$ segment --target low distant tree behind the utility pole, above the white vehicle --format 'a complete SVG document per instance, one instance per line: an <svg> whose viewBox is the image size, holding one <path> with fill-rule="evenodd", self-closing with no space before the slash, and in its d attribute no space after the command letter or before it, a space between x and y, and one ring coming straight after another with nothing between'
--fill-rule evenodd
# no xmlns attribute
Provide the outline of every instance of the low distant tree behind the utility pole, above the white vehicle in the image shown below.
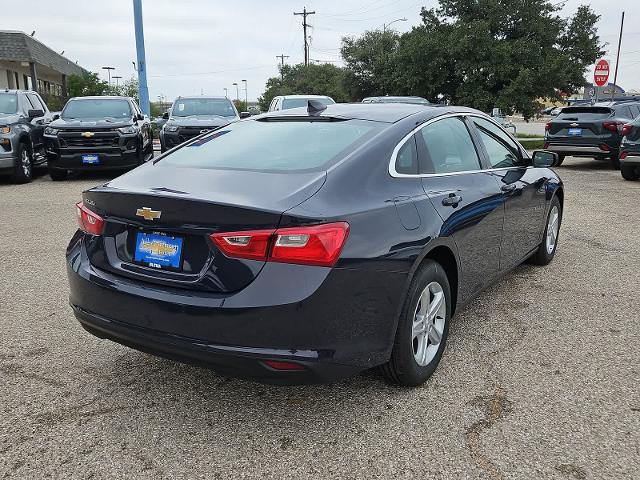
<svg viewBox="0 0 640 480"><path fill-rule="evenodd" d="M258 98L260 109L267 111L277 95L328 95L336 102L349 101L344 73L342 68L330 63L283 65L280 77L267 80L265 92Z"/></svg>

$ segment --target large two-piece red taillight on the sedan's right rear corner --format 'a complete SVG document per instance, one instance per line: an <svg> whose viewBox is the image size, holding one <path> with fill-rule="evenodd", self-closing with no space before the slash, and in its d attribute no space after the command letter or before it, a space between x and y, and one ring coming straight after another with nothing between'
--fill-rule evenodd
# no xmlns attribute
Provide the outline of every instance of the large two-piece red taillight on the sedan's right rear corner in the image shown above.
<svg viewBox="0 0 640 480"><path fill-rule="evenodd" d="M214 233L227 257L302 265L333 266L349 235L346 222L245 232Z"/></svg>

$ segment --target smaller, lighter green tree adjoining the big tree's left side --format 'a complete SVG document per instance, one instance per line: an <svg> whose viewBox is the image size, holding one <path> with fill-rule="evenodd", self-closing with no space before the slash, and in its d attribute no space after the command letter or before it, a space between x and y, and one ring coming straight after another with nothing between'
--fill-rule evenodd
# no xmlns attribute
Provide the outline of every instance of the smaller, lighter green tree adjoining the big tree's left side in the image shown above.
<svg viewBox="0 0 640 480"><path fill-rule="evenodd" d="M393 63L399 38L393 30L371 30L361 37L342 39L344 82L351 98L385 95L394 89Z"/></svg>

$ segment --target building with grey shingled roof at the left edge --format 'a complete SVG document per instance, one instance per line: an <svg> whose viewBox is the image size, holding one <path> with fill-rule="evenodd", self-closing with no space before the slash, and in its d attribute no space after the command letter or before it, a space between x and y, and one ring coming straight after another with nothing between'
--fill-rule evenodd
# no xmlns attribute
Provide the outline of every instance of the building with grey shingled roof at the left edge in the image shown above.
<svg viewBox="0 0 640 480"><path fill-rule="evenodd" d="M66 97L67 77L86 70L24 32L0 30L0 88Z"/></svg>

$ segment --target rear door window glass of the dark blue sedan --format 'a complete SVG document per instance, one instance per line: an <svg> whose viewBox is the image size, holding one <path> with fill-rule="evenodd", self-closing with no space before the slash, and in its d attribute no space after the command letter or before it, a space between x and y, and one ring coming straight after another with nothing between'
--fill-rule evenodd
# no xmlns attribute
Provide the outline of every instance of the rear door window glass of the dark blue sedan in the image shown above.
<svg viewBox="0 0 640 480"><path fill-rule="evenodd" d="M445 118L420 130L425 158L422 173L455 173L480 169L478 153L460 117Z"/></svg>

